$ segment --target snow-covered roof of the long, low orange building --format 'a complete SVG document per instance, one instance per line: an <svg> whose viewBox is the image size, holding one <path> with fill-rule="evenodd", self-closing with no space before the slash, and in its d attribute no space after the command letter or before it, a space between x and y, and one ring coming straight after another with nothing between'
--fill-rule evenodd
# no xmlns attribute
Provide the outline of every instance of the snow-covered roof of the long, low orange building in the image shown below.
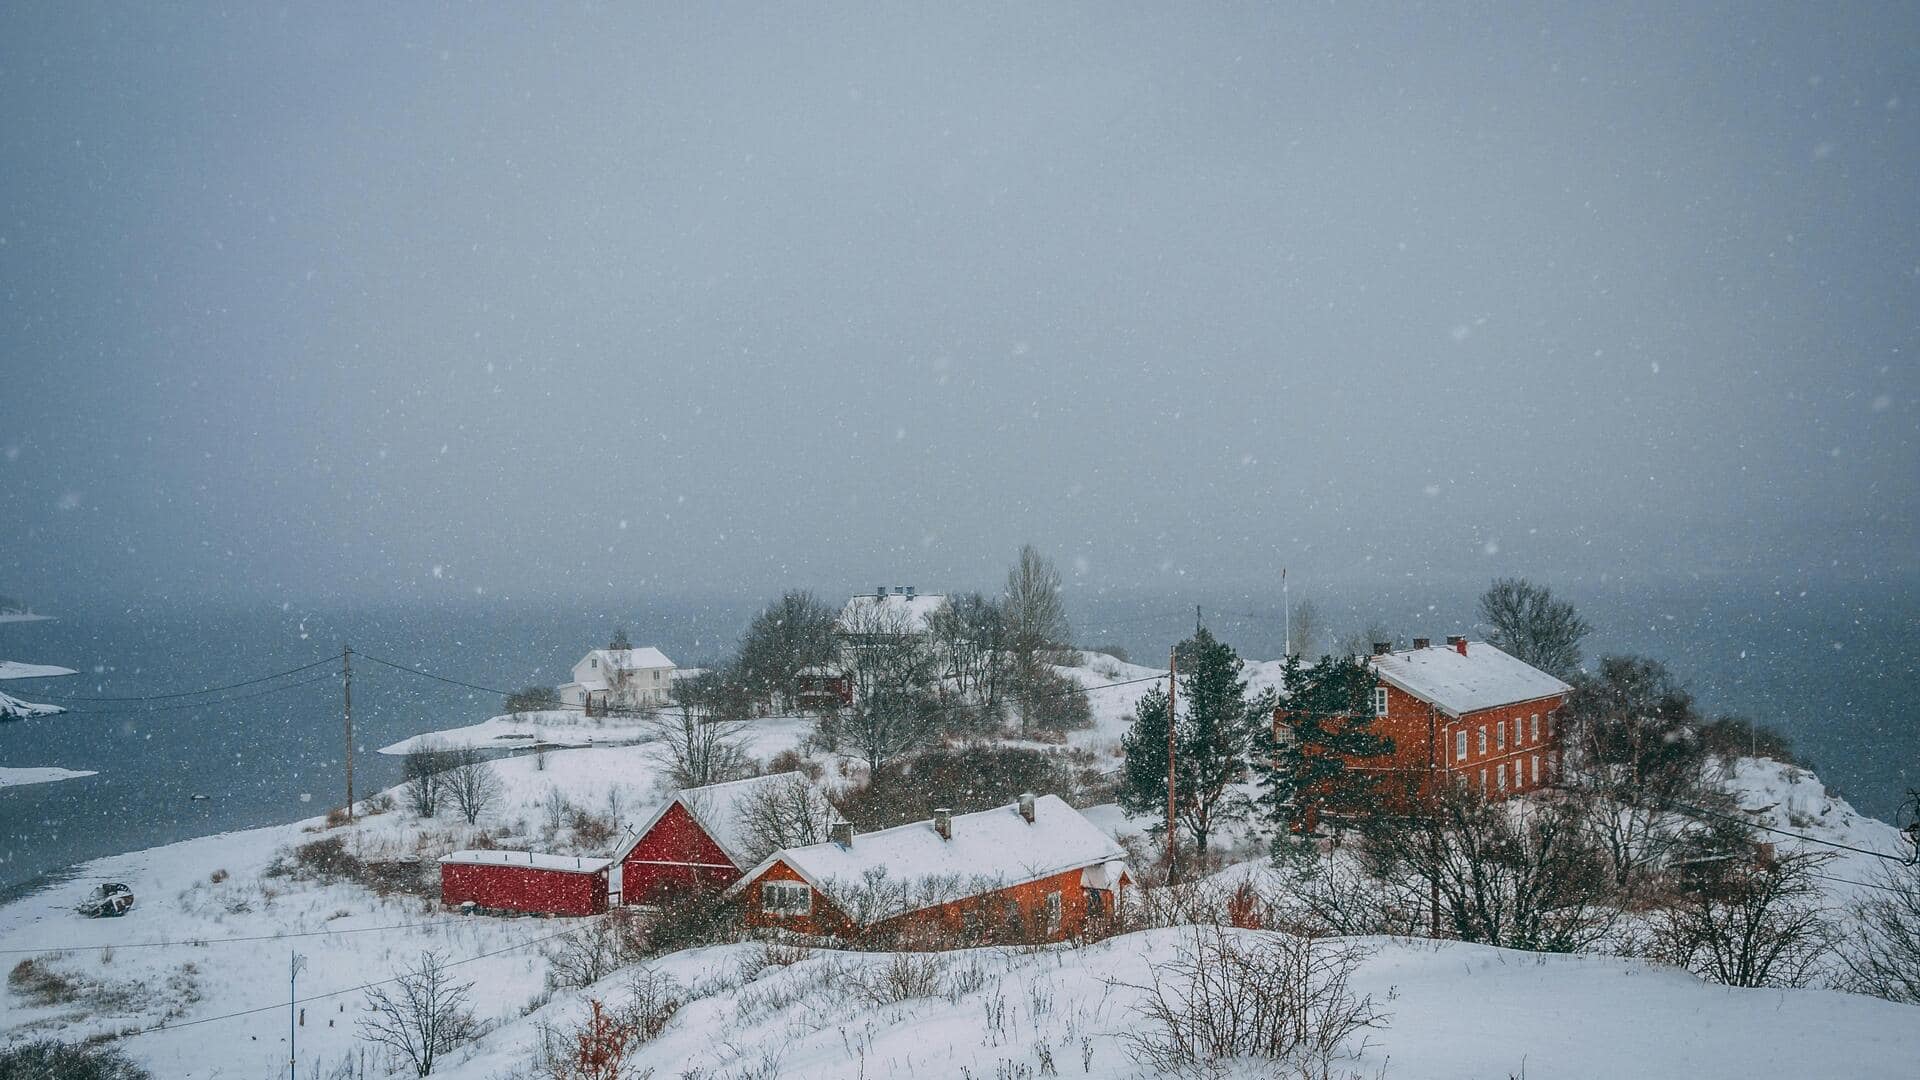
<svg viewBox="0 0 1920 1080"><path fill-rule="evenodd" d="M862 832L851 847L810 844L766 857L733 890L785 863L843 915L872 926L908 911L1033 882L1066 871L1100 867L1100 880L1119 880L1125 851L1060 796L1033 801L1033 822L1018 803L954 815L952 840L931 821Z"/></svg>

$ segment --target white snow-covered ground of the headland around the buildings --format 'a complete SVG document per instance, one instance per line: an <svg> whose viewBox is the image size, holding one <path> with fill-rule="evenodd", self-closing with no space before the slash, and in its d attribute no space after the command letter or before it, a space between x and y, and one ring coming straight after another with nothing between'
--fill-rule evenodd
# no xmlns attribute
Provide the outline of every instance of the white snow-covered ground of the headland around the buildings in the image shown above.
<svg viewBox="0 0 1920 1080"><path fill-rule="evenodd" d="M1156 671L1110 657L1085 663L1064 673L1083 686L1129 682L1094 690L1094 728L1071 740L1110 753L1133 701L1152 686L1133 680ZM804 734L804 721L764 721L751 753L764 761ZM365 1049L355 1030L361 986L390 978L420 949L436 949L459 961L453 972L476 984L478 1013L493 1024L436 1076L493 1080L522 1068L538 1024L572 1026L586 1009L586 992L540 1003L540 944L572 920L447 915L420 896L382 897L361 884L269 874L294 846L330 836L363 859L417 859L426 872L438 855L476 842L607 853L561 824L568 807L636 822L666 796L649 746L516 755L501 759L497 771L503 798L476 826L451 811L420 822L405 807L338 828L309 819L100 859L69 882L0 907L8 967L33 959L29 974L58 976L54 994L25 992L31 980L0 992L0 1042L123 1034L121 1045L156 1076L284 1074L288 961L300 953L307 961L298 984L296 1020L305 1017L298 1026L300 1074L324 1074ZM1811 773L1740 761L1728 780L1743 807L1780 828L1901 849L1889 824L1830 798ZM1112 832L1139 824L1117 807L1091 817ZM1843 855L1824 872L1872 880L1876 863ZM109 880L138 896L125 919L90 920L73 911ZM1836 907L1853 892L1839 882L1828 888ZM1179 936L1148 930L1089 947L943 953L927 961L939 969L933 994L891 1003L860 990L874 982L862 972L893 963L885 953L816 949L799 963L768 967L756 944L689 949L655 963L687 1003L636 1061L662 1078L1044 1076L1044 1063L1062 1076L1146 1076L1125 1053L1121 1036L1139 1019L1137 992L1121 984L1144 982L1173 955ZM1377 999L1388 1024L1342 1067L1359 1076L1801 1080L1914 1076L1920 1061L1920 1011L1876 999L1726 990L1617 957L1384 938L1363 944L1371 957L1357 972L1357 990ZM609 978L591 995L618 1001L630 974Z"/></svg>

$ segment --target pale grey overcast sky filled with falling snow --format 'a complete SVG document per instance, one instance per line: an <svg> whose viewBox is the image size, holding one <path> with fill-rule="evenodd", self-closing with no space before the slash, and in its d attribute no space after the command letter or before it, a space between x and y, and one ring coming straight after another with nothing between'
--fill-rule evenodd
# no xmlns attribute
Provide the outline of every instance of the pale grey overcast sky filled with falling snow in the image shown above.
<svg viewBox="0 0 1920 1080"><path fill-rule="evenodd" d="M1910 4L79 8L0 592L1920 561Z"/></svg>

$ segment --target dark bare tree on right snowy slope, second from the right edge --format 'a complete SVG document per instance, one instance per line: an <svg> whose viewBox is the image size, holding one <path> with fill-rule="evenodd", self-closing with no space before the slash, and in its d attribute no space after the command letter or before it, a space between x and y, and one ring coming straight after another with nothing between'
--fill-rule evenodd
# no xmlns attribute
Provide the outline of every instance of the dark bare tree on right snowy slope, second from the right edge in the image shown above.
<svg viewBox="0 0 1920 1080"><path fill-rule="evenodd" d="M1814 872L1828 855L1778 851L1716 819L1676 859L1690 869L1655 928L1661 953L1728 986L1803 986L1830 938Z"/></svg>

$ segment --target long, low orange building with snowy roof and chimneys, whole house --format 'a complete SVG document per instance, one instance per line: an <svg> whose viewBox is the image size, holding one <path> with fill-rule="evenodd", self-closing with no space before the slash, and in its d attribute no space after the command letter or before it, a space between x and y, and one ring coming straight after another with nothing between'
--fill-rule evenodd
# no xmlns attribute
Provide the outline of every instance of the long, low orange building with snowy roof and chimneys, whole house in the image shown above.
<svg viewBox="0 0 1920 1080"><path fill-rule="evenodd" d="M1058 942L1112 920L1129 884L1114 838L1058 796L768 855L733 886L751 926L856 938Z"/></svg>

